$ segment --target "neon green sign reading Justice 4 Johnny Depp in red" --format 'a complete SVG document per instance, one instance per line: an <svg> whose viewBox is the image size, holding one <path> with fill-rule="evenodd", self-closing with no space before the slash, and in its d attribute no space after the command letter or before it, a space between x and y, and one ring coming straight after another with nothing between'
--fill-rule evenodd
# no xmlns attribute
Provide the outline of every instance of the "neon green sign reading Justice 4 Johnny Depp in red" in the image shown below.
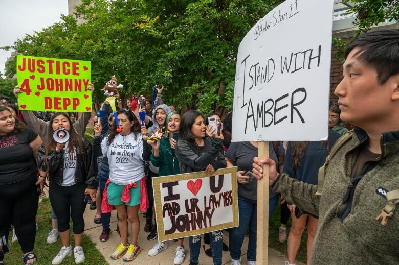
<svg viewBox="0 0 399 265"><path fill-rule="evenodd" d="M17 55L17 78L23 110L87 112L92 110L91 62Z"/></svg>

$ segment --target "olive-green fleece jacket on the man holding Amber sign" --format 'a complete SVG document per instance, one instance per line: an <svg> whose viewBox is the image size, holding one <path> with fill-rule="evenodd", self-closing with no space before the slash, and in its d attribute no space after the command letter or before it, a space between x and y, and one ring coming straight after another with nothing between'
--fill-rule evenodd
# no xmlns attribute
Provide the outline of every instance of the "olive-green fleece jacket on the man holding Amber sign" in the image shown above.
<svg viewBox="0 0 399 265"><path fill-rule="evenodd" d="M380 160L354 189L349 214L343 220L337 216L351 184L347 155L357 153L367 140L363 130L355 129L352 138L330 160L321 196L315 195L317 185L286 174L280 174L273 184L287 201L319 216L311 264L399 264L399 205L386 226L375 220L387 204L378 190L399 189L399 131L382 135ZM353 156L352 168L356 158Z"/></svg>

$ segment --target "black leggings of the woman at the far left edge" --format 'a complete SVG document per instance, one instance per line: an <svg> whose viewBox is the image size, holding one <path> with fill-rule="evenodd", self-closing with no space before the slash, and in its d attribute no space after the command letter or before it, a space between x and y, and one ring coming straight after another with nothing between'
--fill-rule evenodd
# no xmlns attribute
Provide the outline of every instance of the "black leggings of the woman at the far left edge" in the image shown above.
<svg viewBox="0 0 399 265"><path fill-rule="evenodd" d="M0 185L0 237L15 227L19 245L24 253L33 250L36 237L36 214L39 195L36 173L23 181ZM0 257L0 261L3 258Z"/></svg>

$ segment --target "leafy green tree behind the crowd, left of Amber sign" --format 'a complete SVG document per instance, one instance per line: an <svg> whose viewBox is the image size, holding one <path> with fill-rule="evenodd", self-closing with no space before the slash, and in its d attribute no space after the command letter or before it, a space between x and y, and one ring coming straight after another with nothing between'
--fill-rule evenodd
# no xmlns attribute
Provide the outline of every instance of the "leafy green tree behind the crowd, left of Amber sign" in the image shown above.
<svg viewBox="0 0 399 265"><path fill-rule="evenodd" d="M92 62L95 97L110 76L122 94L151 95L165 86L168 104L200 109L232 106L238 45L275 0L84 0L72 16L26 35L13 46L20 54ZM13 64L14 63L14 64ZM6 75L15 74L15 60Z"/></svg>

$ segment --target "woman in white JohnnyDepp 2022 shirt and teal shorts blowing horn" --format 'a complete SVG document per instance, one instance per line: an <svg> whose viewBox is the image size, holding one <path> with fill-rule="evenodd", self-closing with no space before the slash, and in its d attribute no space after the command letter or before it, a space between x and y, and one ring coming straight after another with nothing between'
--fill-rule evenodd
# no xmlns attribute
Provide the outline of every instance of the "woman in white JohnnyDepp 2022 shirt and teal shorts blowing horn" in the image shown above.
<svg viewBox="0 0 399 265"><path fill-rule="evenodd" d="M149 161L150 149L142 139L147 130L145 126L141 127L137 117L128 109L118 110L117 115L122 131L117 132L116 123L113 123L109 135L101 142L102 155L108 157L109 163L109 179L104 188L102 207L112 205L118 213L122 242L111 258L119 259L123 256L123 261L131 261L141 252L137 242L140 231L138 213L142 199L146 197L144 161ZM97 124L94 128L95 136L99 136L101 130ZM98 149L98 146L95 148ZM130 242L127 220L131 225Z"/></svg>

